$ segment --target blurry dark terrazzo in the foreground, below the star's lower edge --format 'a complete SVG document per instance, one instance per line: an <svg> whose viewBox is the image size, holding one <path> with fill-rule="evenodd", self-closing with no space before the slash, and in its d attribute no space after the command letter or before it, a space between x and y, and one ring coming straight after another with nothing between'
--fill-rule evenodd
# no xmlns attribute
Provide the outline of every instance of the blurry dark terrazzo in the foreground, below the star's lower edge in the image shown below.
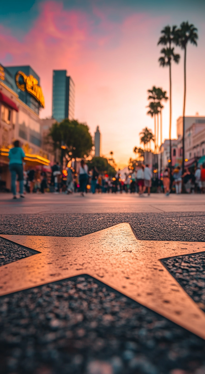
<svg viewBox="0 0 205 374"><path fill-rule="evenodd" d="M1 373L205 373L204 340L90 276L1 297L0 310Z"/></svg>

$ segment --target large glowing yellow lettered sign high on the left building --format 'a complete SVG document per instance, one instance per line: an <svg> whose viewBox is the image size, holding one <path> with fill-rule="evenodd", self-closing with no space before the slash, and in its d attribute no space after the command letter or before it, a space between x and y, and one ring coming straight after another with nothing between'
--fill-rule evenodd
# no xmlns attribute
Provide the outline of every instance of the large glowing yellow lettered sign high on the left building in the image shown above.
<svg viewBox="0 0 205 374"><path fill-rule="evenodd" d="M18 71L16 74L16 86L21 91L27 91L36 98L42 108L45 107L45 99L43 96L42 88L38 85L38 81L33 75L27 76L22 71Z"/></svg>

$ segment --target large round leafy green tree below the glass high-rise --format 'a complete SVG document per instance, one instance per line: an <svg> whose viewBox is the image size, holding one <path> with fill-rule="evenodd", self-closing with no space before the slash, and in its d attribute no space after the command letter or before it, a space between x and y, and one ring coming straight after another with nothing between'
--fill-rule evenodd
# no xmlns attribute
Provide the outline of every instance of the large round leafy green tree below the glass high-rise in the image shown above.
<svg viewBox="0 0 205 374"><path fill-rule="evenodd" d="M87 157L92 150L92 137L86 123L65 119L52 125L49 136L52 138L54 150L65 145L74 159Z"/></svg>

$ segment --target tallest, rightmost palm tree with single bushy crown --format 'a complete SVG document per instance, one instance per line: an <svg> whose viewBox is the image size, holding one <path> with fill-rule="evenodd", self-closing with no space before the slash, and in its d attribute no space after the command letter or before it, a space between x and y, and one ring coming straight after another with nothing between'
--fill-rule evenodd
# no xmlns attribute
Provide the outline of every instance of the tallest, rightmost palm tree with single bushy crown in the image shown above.
<svg viewBox="0 0 205 374"><path fill-rule="evenodd" d="M185 103L186 103L186 53L187 53L187 43L190 42L197 46L196 40L198 39L197 34L198 29L189 22L182 22L180 29L178 30L178 45L181 49L184 49L184 103L183 103L183 139L182 139L182 169L184 173L184 134L185 134Z"/></svg>

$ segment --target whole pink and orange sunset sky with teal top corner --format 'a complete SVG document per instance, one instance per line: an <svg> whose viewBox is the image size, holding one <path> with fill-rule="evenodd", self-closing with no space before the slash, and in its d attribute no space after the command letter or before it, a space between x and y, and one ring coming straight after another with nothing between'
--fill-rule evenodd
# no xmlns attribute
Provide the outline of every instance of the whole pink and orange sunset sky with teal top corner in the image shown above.
<svg viewBox="0 0 205 374"><path fill-rule="evenodd" d="M101 151L114 152L119 167L134 157L139 132L153 130L147 116L147 89L169 92L168 68L159 67L160 30L189 21L198 28L198 47L187 51L186 115L205 115L204 0L3 1L0 63L30 65L45 95L42 118L51 116L52 70L67 69L76 85L75 117L91 134L100 126ZM172 68L172 137L183 106L183 51ZM169 107L163 110L168 138Z"/></svg>

